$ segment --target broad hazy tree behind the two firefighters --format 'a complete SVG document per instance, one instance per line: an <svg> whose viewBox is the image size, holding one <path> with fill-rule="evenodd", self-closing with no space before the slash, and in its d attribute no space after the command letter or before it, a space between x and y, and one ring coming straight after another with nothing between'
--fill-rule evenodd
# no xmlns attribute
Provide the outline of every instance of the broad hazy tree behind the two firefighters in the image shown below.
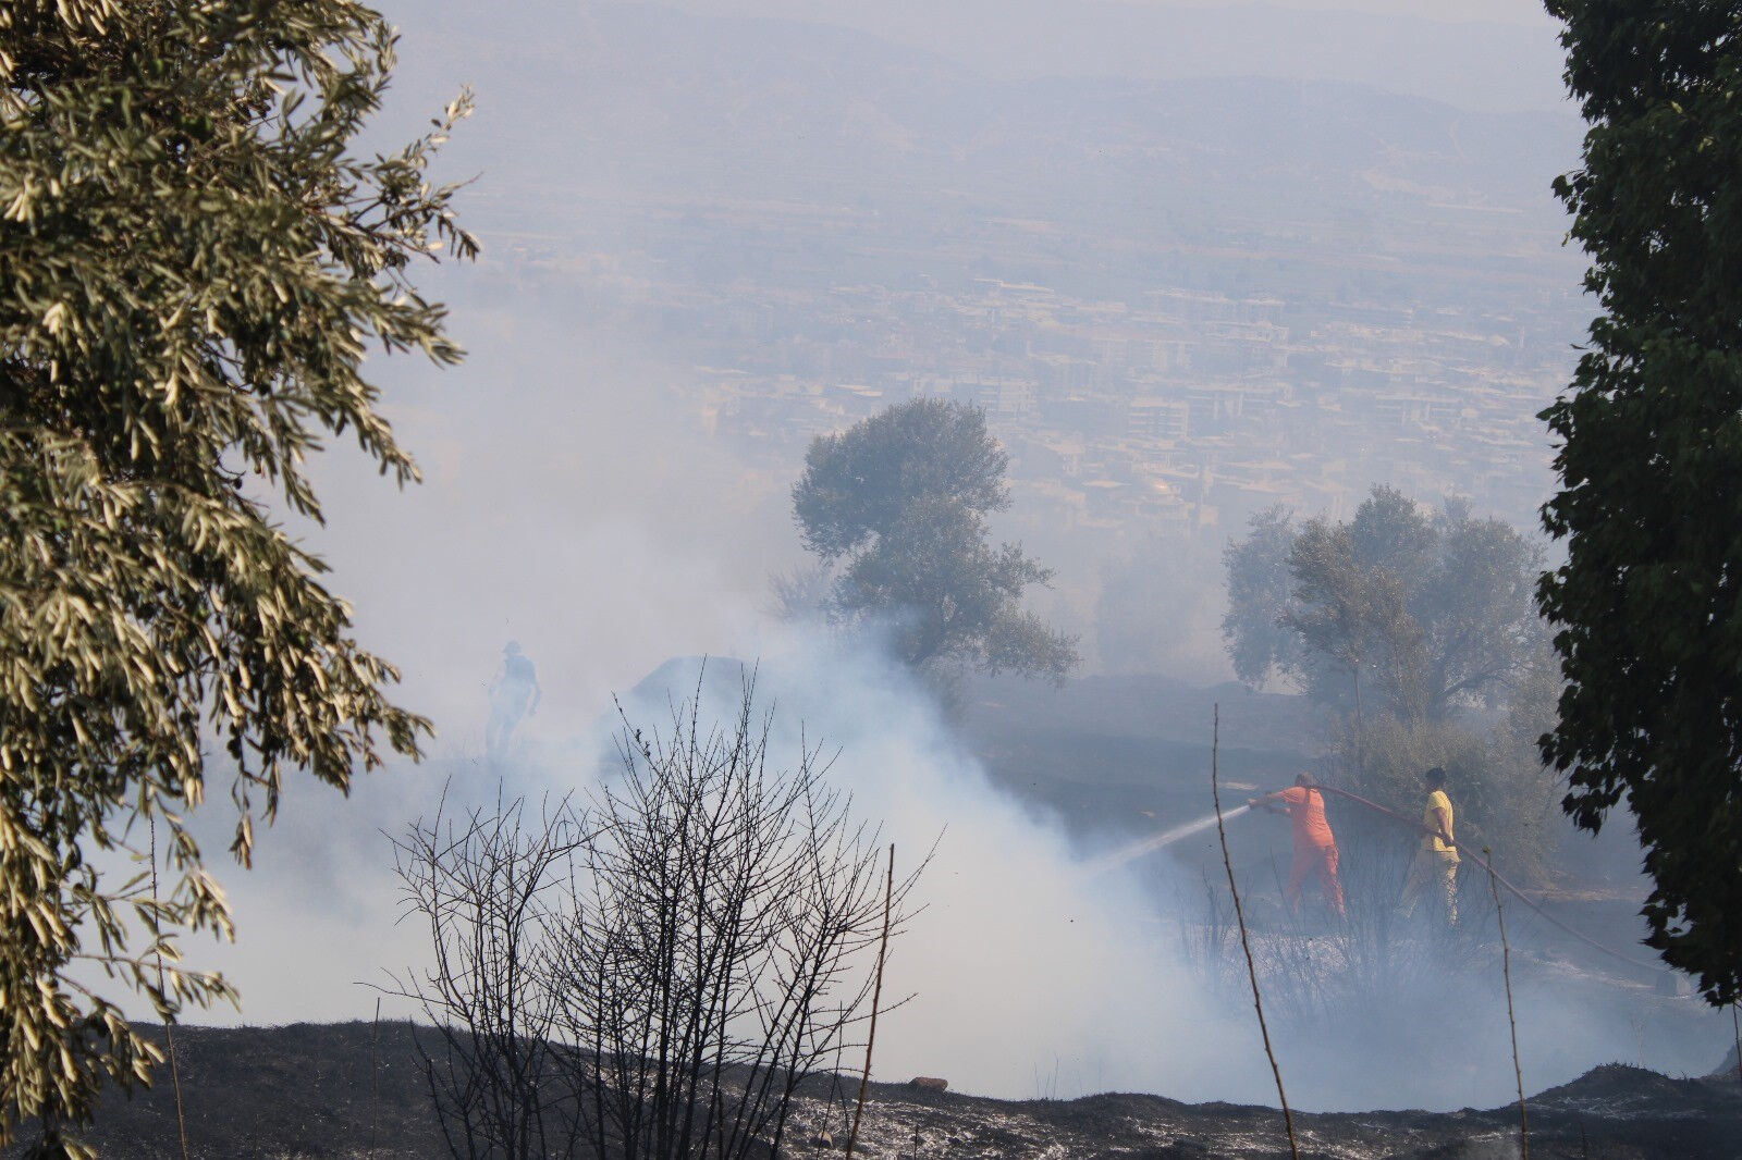
<svg viewBox="0 0 1742 1160"><path fill-rule="evenodd" d="M1462 502L1430 514L1374 488L1345 523L1263 512L1223 559L1240 679L1277 674L1326 705L1354 786L1402 803L1448 766L1470 836L1540 866L1552 779L1517 744L1552 719L1536 545ZM1498 725L1467 725L1477 707Z"/></svg>

